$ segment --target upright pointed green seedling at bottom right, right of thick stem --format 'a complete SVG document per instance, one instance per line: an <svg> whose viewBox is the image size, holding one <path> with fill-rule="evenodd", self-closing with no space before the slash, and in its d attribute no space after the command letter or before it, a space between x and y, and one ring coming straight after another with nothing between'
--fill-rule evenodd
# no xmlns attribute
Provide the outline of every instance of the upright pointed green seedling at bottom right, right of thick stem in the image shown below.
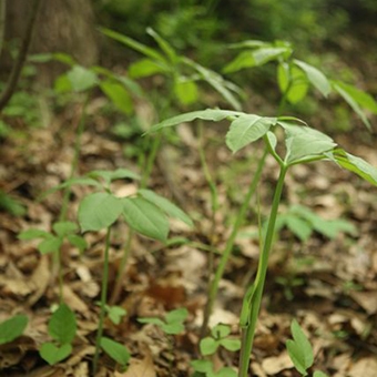
<svg viewBox="0 0 377 377"><path fill-rule="evenodd" d="M302 376L308 375L308 369L313 366L314 355L312 345L296 319L292 320L291 332L293 339L286 342L286 347L295 368ZM323 371L315 371L313 377L327 377Z"/></svg>

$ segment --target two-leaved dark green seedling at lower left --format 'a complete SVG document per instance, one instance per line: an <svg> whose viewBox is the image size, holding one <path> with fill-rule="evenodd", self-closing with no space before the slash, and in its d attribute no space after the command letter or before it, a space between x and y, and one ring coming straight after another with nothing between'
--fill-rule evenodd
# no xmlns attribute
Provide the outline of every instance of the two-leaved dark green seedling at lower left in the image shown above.
<svg viewBox="0 0 377 377"><path fill-rule="evenodd" d="M45 361L54 365L72 353L72 342L77 334L77 320L72 309L61 304L52 314L48 329L54 342L43 343L39 353Z"/></svg>

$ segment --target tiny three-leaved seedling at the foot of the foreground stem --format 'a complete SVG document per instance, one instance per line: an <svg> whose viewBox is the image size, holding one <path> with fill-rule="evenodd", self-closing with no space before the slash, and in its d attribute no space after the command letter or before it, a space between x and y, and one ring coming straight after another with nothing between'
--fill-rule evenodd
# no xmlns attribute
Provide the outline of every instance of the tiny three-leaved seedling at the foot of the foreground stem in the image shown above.
<svg viewBox="0 0 377 377"><path fill-rule="evenodd" d="M228 337L231 327L227 325L216 325L211 329L211 335L203 338L200 343L201 354L203 356L213 355L220 346L227 350L236 351L241 348L240 339Z"/></svg>

